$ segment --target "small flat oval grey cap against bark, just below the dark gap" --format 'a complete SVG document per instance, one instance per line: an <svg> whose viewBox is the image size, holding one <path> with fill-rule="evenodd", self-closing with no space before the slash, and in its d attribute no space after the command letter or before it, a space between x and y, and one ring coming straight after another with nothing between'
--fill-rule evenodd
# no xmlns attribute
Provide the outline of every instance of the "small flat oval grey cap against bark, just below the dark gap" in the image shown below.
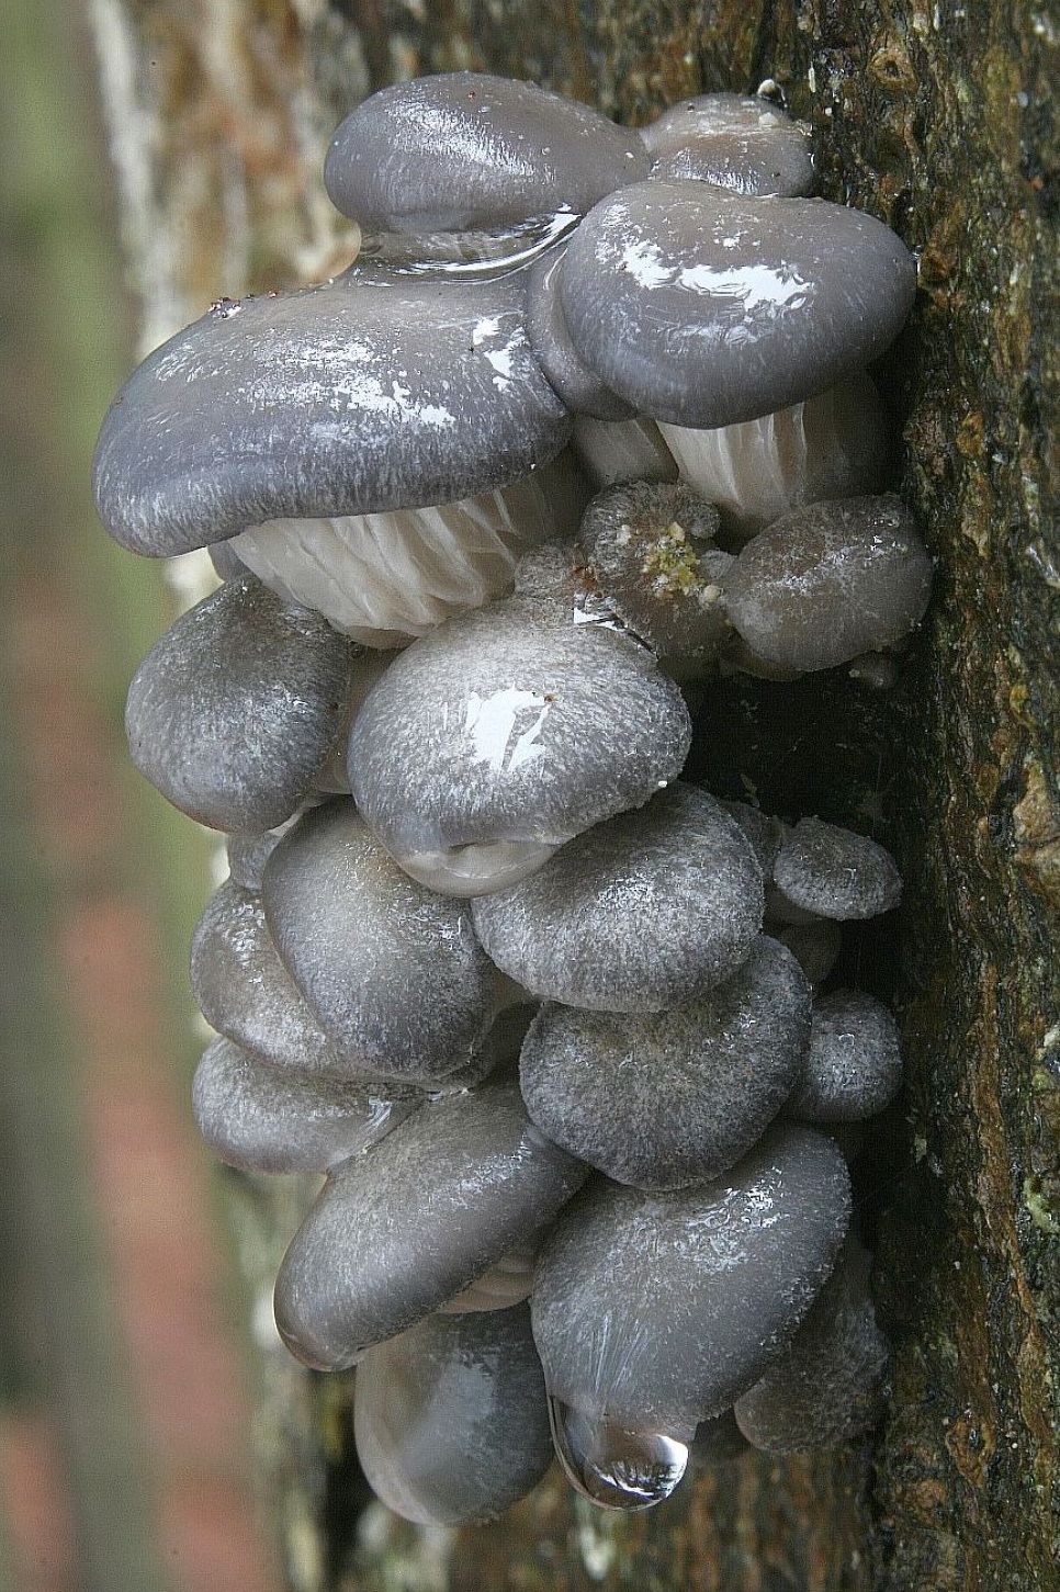
<svg viewBox="0 0 1060 1592"><path fill-rule="evenodd" d="M839 922L890 912L902 893L894 858L879 841L821 818L799 818L785 833L774 880L791 906Z"/></svg>

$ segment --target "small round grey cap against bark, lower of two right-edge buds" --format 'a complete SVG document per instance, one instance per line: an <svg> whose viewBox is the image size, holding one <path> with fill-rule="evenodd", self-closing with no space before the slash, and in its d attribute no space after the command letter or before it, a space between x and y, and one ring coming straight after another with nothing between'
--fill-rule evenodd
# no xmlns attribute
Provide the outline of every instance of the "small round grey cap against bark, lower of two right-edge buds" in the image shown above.
<svg viewBox="0 0 1060 1592"><path fill-rule="evenodd" d="M861 990L813 1003L810 1046L786 1110L807 1122L859 1122L894 1098L902 1081L898 1024Z"/></svg>

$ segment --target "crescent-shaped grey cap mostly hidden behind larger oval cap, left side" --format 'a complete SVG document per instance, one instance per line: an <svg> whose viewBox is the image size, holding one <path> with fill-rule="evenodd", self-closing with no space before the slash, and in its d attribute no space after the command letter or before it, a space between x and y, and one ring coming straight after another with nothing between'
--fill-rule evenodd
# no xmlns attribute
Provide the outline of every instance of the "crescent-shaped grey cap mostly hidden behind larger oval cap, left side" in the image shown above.
<svg viewBox="0 0 1060 1592"><path fill-rule="evenodd" d="M212 1028L274 1067L333 1078L366 1071L329 1041L280 962L261 896L232 879L213 892L196 925L191 992Z"/></svg>

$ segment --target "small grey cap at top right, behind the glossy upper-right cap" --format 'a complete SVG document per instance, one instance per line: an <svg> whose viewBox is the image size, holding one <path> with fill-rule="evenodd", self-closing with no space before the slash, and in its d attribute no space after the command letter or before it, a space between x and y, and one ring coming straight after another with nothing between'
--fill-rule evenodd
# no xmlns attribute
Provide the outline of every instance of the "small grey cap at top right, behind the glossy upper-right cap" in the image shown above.
<svg viewBox="0 0 1060 1592"><path fill-rule="evenodd" d="M813 191L810 140L780 105L754 94L702 94L640 129L651 175L699 178L735 194Z"/></svg>

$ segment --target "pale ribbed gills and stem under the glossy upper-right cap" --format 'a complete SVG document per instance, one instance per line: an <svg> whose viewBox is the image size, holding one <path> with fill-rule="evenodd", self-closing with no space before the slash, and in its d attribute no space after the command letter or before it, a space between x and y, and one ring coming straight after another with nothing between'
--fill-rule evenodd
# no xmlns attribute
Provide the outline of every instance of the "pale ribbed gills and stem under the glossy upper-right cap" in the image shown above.
<svg viewBox="0 0 1060 1592"><path fill-rule="evenodd" d="M821 498L880 492L891 463L887 416L856 371L816 398L742 425L661 425L681 479L716 505L731 540Z"/></svg>

